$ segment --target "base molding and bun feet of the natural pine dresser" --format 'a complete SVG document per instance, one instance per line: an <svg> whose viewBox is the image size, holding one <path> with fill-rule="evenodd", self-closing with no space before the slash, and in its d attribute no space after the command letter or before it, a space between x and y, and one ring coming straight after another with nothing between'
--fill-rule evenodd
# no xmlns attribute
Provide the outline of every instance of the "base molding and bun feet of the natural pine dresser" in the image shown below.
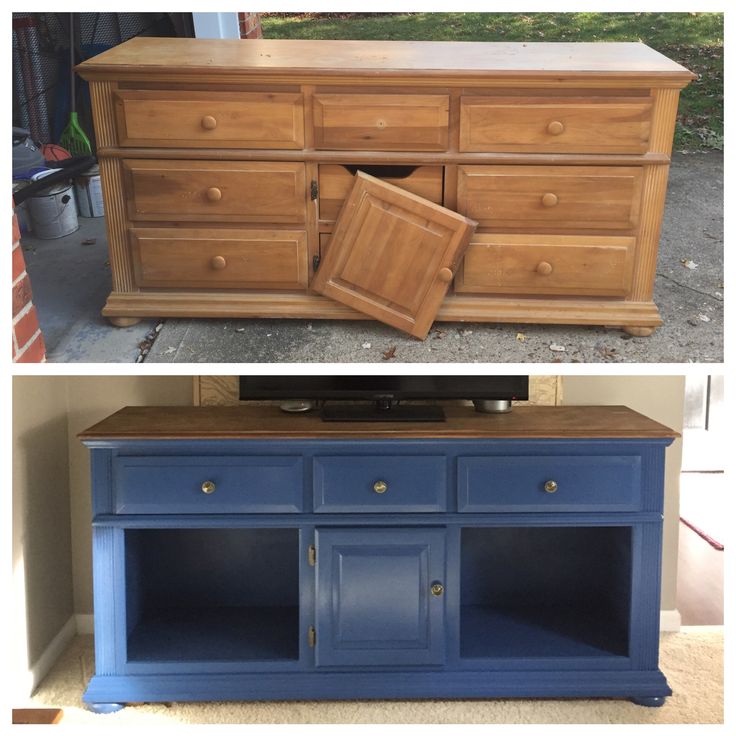
<svg viewBox="0 0 736 736"><path fill-rule="evenodd" d="M269 292L113 292L102 314L117 326L143 317L216 319L368 319L331 299L309 294ZM662 324L654 302L595 299L535 299L456 296L445 299L437 321L524 324L578 324L620 327L650 335Z"/></svg>

